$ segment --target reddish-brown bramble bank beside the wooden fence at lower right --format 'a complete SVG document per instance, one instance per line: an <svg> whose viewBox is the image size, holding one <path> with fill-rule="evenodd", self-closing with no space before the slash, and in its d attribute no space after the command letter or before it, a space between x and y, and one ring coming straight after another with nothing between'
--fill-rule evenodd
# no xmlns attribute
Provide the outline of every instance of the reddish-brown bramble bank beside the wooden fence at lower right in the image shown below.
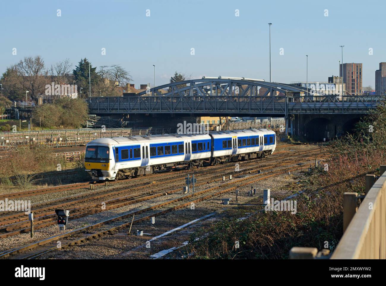
<svg viewBox="0 0 386 286"><path fill-rule="evenodd" d="M331 143L328 170L318 168L299 184L297 213L257 212L245 220L223 218L190 238L187 257L286 259L294 246L334 250L343 228L344 192L364 192L364 176L385 163L386 108L361 118L352 135ZM283 198L275 198L282 200ZM240 248L235 248L235 241Z"/></svg>

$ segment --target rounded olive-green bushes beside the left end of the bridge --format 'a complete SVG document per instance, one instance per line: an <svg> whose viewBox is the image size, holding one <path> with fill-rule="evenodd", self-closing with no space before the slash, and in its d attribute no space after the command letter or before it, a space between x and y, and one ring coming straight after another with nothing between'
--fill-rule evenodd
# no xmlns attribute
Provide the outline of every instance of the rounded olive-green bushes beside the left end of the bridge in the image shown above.
<svg viewBox="0 0 386 286"><path fill-rule="evenodd" d="M61 98L55 103L36 108L32 118L34 124L50 128L79 128L86 122L88 105L83 99Z"/></svg>

